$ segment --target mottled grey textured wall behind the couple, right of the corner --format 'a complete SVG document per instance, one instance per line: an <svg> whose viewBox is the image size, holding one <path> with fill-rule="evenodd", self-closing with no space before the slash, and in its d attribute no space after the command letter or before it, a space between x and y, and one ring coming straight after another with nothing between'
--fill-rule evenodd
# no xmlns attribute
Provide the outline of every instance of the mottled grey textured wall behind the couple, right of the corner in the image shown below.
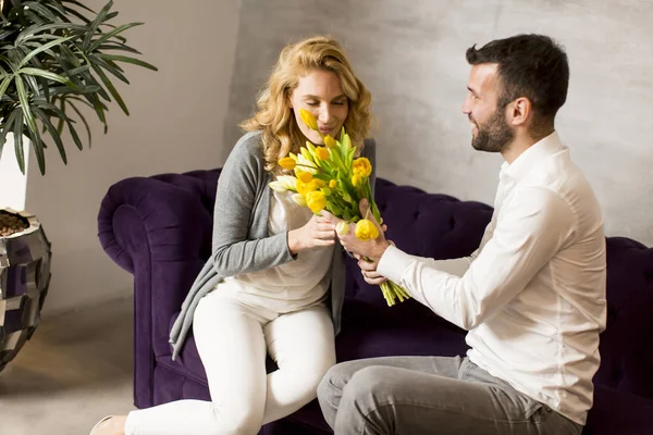
<svg viewBox="0 0 653 435"><path fill-rule="evenodd" d="M543 33L568 52L557 129L602 204L606 233L653 246L650 0L242 0L222 160L280 49L329 33L373 95L379 174L492 202L501 157L475 152L460 113L472 44Z"/></svg>

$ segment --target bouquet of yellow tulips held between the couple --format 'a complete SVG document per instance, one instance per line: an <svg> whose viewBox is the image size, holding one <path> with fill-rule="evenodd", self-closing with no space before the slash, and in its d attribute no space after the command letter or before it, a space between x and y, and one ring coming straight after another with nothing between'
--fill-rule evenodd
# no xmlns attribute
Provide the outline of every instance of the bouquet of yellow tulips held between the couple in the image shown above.
<svg viewBox="0 0 653 435"><path fill-rule="evenodd" d="M301 109L300 115L306 125L319 133L312 113ZM368 219L369 215L360 215L358 208L360 200L366 198L370 204L369 212L377 222L382 222L370 187L370 161L365 157L355 159L356 148L352 146L344 127L340 140L330 135L320 135L324 147L316 147L307 141L299 154L291 152L279 161L281 167L294 171L295 175L279 175L276 181L270 183L270 187L276 191L294 191L293 200L299 206L308 207L315 214L326 210L344 220L336 227L341 235L346 234L349 223L355 223L355 234L359 239L379 237L377 225ZM381 291L389 307L395 304L396 299L403 302L409 298L406 290L392 281L381 284Z"/></svg>

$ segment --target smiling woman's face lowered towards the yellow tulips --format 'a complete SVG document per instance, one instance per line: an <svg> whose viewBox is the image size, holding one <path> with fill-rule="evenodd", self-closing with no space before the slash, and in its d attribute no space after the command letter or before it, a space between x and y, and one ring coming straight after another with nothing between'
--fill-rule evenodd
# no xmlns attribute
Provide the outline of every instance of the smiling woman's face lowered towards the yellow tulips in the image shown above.
<svg viewBox="0 0 653 435"><path fill-rule="evenodd" d="M304 136L316 145L322 145L322 137L301 121L299 110L306 109L313 114L322 135L337 137L349 113L349 100L334 73L312 70L299 77L297 87L291 95L291 108Z"/></svg>

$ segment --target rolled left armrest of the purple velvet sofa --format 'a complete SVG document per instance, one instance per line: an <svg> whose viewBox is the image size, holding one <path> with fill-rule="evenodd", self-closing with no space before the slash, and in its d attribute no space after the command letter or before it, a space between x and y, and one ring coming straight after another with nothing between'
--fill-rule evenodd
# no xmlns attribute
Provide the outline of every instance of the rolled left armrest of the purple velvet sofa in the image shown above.
<svg viewBox="0 0 653 435"><path fill-rule="evenodd" d="M115 263L134 274L139 352L170 353L170 319L210 254L218 175L198 171L126 178L102 200L100 243Z"/></svg>

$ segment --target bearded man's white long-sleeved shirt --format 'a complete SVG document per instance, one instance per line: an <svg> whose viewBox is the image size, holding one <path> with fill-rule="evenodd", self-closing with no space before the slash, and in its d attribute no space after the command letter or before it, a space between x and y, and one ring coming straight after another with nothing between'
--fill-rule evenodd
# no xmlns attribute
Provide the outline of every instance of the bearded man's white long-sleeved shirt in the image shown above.
<svg viewBox="0 0 653 435"><path fill-rule="evenodd" d="M475 364L586 423L606 322L605 237L594 192L557 133L503 164L470 257L436 261L391 246L378 272L469 331Z"/></svg>

